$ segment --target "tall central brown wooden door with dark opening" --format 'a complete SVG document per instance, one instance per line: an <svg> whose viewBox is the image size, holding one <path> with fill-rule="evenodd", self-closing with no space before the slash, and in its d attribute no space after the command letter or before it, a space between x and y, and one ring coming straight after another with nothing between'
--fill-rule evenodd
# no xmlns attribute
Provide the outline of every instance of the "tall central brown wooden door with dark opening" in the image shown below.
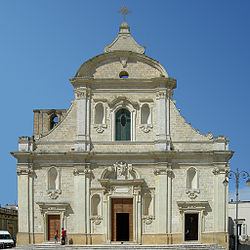
<svg viewBox="0 0 250 250"><path fill-rule="evenodd" d="M111 199L111 240L133 241L133 199Z"/></svg>

